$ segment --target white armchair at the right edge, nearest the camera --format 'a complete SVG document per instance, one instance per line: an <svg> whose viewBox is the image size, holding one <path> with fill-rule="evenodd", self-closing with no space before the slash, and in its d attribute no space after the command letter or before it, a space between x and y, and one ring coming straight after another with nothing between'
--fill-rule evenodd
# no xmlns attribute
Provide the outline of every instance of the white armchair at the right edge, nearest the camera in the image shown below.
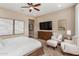
<svg viewBox="0 0 79 59"><path fill-rule="evenodd" d="M79 37L75 36L72 40L65 40L61 43L61 49L65 53L79 55Z"/></svg>

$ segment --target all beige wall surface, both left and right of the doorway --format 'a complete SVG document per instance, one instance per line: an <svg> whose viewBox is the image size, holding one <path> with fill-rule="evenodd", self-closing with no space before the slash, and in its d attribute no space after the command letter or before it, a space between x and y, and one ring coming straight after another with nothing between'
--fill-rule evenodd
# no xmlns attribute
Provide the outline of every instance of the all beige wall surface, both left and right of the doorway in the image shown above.
<svg viewBox="0 0 79 59"><path fill-rule="evenodd" d="M25 21L25 35L28 36L28 19L34 19L33 17L28 17L22 13L11 11L8 9L0 8L0 17L1 18L10 18L15 20L24 20ZM46 14L40 17L35 18L34 23L34 36L37 37L37 31L39 31L39 22L43 21L53 21L53 30L52 32L58 31L57 21L60 19L67 20L67 29L72 30L72 34L75 32L75 8L67 8L54 13Z"/></svg>

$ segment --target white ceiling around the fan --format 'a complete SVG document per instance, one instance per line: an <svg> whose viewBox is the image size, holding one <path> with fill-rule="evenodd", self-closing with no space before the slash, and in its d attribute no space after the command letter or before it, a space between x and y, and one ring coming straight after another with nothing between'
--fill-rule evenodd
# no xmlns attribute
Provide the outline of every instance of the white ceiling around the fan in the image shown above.
<svg viewBox="0 0 79 59"><path fill-rule="evenodd" d="M21 6L27 6L27 3L0 3L0 7L7 8L13 11L24 13L27 16L37 17L47 13L59 11L64 8L74 6L74 3L41 3L41 6L38 7L40 11L32 10L29 12L28 8L21 8Z"/></svg>

